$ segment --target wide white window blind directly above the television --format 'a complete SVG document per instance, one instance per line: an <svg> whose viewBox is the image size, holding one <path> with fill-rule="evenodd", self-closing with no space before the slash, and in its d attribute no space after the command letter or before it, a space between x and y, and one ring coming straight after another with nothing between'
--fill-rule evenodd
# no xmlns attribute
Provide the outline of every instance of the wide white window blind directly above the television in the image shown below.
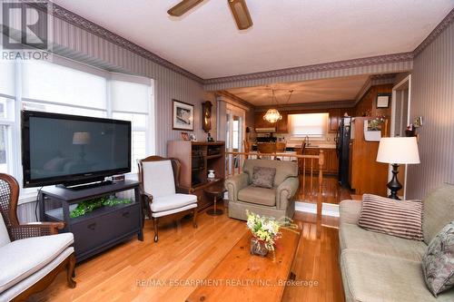
<svg viewBox="0 0 454 302"><path fill-rule="evenodd" d="M106 108L104 77L43 61L23 62L23 97L87 108Z"/></svg>

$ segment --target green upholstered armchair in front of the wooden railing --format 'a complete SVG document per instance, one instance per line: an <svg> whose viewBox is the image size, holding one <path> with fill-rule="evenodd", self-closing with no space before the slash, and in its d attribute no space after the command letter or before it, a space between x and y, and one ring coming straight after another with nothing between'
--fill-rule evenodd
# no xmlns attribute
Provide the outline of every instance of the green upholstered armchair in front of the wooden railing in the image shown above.
<svg viewBox="0 0 454 302"><path fill-rule="evenodd" d="M275 168L271 189L252 186L254 167ZM298 163L294 161L246 160L242 173L224 182L228 192L229 217L246 220L246 210L262 216L281 219L292 218L295 212L294 197L300 187Z"/></svg>

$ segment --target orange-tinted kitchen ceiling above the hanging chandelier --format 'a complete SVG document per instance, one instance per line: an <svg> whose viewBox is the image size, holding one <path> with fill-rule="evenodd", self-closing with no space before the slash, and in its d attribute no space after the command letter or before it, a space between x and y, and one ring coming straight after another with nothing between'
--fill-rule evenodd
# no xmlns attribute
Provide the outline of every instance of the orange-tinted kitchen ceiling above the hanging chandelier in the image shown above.
<svg viewBox="0 0 454 302"><path fill-rule="evenodd" d="M280 105L308 102L334 102L355 100L360 89L368 81L369 75L333 78L328 80L304 81L296 83L274 83L265 86L235 88L227 90L254 106L271 104L271 90L275 90ZM289 99L289 91L291 98Z"/></svg>

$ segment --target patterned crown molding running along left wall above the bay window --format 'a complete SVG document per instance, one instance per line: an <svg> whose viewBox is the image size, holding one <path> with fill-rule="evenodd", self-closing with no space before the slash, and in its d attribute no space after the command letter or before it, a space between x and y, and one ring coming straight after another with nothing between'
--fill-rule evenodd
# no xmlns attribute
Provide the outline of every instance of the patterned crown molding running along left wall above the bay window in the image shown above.
<svg viewBox="0 0 454 302"><path fill-rule="evenodd" d="M113 32L105 29L103 26L94 24L93 22L85 19L84 17L74 14L73 12L65 9L63 6L55 5L54 3L48 0L35 2L34 6L41 9L48 9L48 13L50 13L54 17L62 19L69 24L73 24L74 26L80 27L91 34L98 35L113 44L121 46L133 52L134 54L138 54L143 58L152 61L153 63L157 63L163 67L172 70L175 73L180 73L183 76L190 78L197 83L203 84L203 79L201 77L188 72L187 70L183 69L180 66L175 65L172 62L163 59L161 56L157 54L153 54L152 52L147 51L138 44L134 44L133 42L123 38L118 34L114 34Z"/></svg>

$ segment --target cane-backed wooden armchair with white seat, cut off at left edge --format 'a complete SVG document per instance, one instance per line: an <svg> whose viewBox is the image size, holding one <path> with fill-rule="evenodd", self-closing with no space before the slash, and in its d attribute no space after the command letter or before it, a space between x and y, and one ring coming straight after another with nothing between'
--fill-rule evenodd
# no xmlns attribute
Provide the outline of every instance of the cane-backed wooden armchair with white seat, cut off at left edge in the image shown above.
<svg viewBox="0 0 454 302"><path fill-rule="evenodd" d="M0 301L25 301L64 269L75 287L73 233L58 234L63 222L19 224L18 198L17 181L0 173Z"/></svg>

